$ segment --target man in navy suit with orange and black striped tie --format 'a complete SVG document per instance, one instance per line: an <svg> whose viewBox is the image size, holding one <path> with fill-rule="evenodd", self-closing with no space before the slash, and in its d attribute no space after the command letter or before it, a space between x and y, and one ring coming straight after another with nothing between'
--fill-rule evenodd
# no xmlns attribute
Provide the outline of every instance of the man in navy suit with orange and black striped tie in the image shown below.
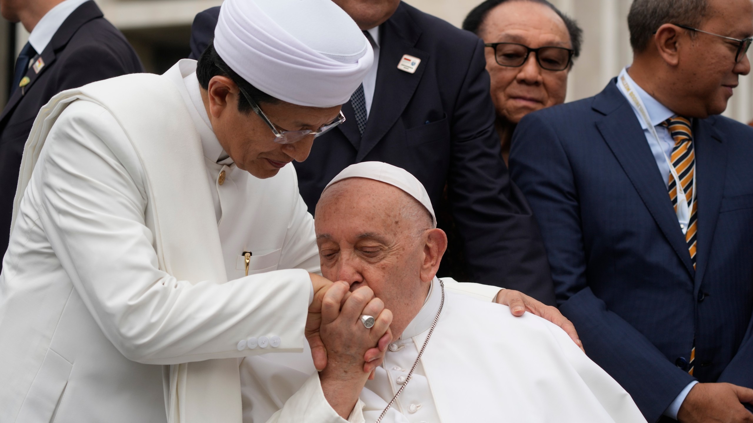
<svg viewBox="0 0 753 423"><path fill-rule="evenodd" d="M719 116L753 5L635 0L628 23L633 65L524 117L511 174L560 311L647 420L753 421L753 129Z"/></svg>

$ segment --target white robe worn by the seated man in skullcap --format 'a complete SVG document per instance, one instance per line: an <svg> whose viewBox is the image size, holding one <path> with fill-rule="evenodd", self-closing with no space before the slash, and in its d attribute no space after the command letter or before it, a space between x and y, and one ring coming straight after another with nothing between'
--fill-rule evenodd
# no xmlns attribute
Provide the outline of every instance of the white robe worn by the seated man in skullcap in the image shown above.
<svg viewBox="0 0 753 423"><path fill-rule="evenodd" d="M423 308L390 345L347 421L377 420L404 383L440 301L435 280ZM314 374L272 421L345 423L339 417L309 418L312 404L322 400ZM630 394L559 327L530 313L516 318L507 306L447 290L441 318L413 377L382 421L645 423L645 418Z"/></svg>

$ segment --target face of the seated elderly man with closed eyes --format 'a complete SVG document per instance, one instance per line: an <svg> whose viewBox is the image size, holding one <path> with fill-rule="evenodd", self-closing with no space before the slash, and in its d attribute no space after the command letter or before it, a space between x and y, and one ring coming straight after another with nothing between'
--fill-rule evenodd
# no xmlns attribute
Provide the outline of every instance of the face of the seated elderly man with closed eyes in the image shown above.
<svg viewBox="0 0 753 423"><path fill-rule="evenodd" d="M421 207L410 201L392 185L349 178L328 188L316 206L322 275L348 282L351 291L371 288L393 313L393 336L421 309L447 245L442 230L430 229L428 213L402 212L403 205Z"/></svg>

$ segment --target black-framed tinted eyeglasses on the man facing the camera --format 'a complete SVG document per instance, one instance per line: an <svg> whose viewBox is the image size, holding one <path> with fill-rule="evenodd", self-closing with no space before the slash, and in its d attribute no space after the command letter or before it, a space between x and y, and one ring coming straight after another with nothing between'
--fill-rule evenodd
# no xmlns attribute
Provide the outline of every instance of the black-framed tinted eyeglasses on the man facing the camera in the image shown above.
<svg viewBox="0 0 753 423"><path fill-rule="evenodd" d="M494 59L498 65L519 68L526 63L531 52L536 53L536 62L547 71L564 71L572 62L574 50L565 47L531 48L517 43L489 43L484 47L494 49Z"/></svg>

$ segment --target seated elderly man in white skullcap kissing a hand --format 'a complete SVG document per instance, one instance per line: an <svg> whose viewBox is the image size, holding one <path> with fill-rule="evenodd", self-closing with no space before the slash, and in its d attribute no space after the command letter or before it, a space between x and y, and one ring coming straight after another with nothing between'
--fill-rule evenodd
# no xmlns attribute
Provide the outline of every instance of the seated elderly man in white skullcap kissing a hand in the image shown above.
<svg viewBox="0 0 753 423"><path fill-rule="evenodd" d="M316 206L316 239L322 274L339 280L322 308L321 376L340 376L333 379L340 397L329 400L340 418L320 423L645 423L630 394L559 327L535 315L514 318L436 278L447 236L426 190L404 169L364 162L340 172ZM340 303L365 288L392 311L395 337L370 380L359 371L361 350L330 348L366 336L360 322L349 330L340 323L358 321ZM322 397L319 379L303 382L273 421L314 421L306 410Z"/></svg>

